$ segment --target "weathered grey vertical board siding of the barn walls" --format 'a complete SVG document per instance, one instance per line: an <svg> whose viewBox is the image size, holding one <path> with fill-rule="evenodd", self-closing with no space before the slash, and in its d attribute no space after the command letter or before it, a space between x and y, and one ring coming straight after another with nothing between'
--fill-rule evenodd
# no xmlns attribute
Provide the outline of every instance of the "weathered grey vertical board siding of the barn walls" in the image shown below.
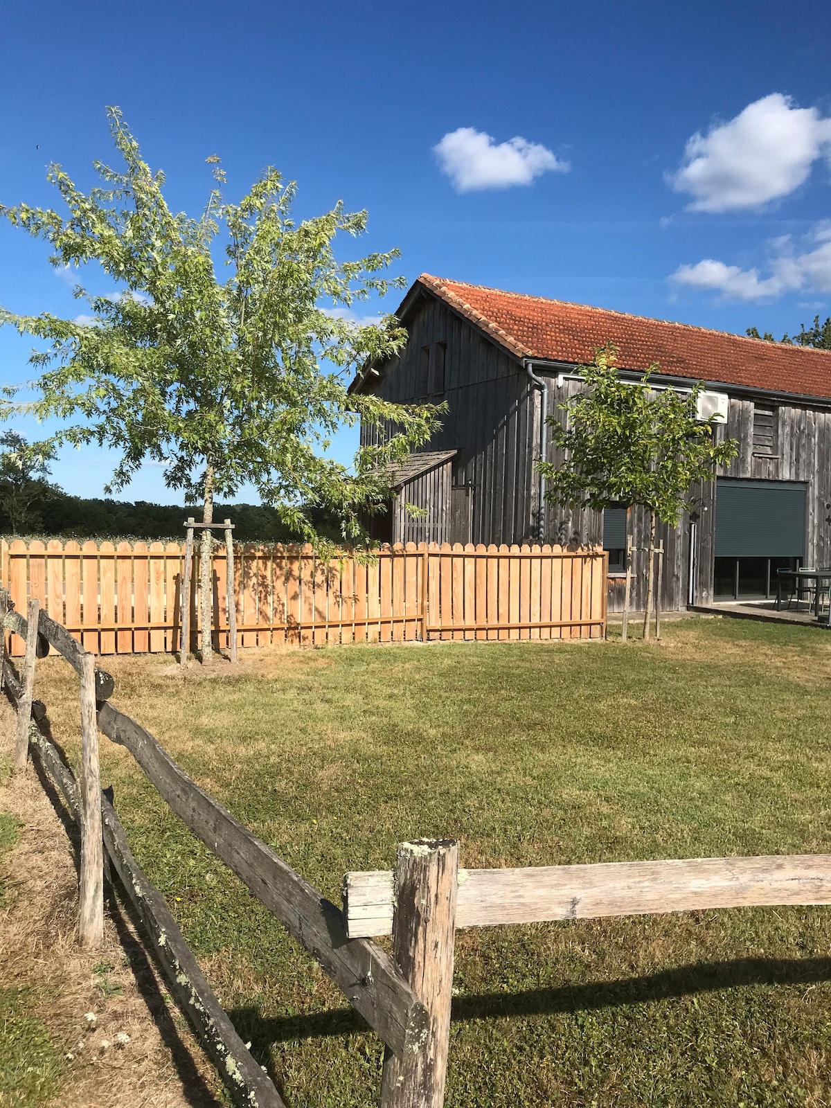
<svg viewBox="0 0 831 1108"><path fill-rule="evenodd" d="M430 450L456 449L452 485L470 483L473 496L470 536L451 535L451 541L474 543L545 542L563 546L595 545L603 542L602 513L546 505L540 533L540 481L534 462L540 451L542 392L533 387L519 358L502 350L468 320L442 301L425 296L408 320L410 341L400 359L386 367L376 391L388 400L412 402L421 399L419 382L424 372L424 347L447 343L445 389L430 399L445 400L449 411L443 427L431 440ZM547 381L546 416L564 419L558 406L583 388L567 377L557 384L556 370L534 363L534 373ZM801 481L808 486L806 563L831 564L831 401L786 403L765 393L730 397L727 425L721 434L739 441L739 455L724 475L757 480ZM427 399L427 398L424 398ZM778 458L755 456L752 435L753 399L776 409ZM372 441L373 429L361 430L362 441ZM557 461L548 449L548 459ZM715 551L714 483L696 490L699 519L695 526L695 603L712 601ZM410 501L414 503L416 501ZM419 502L420 503L420 502ZM427 504L424 504L427 506ZM645 604L645 547L649 521L646 512L633 512L632 606ZM398 536L397 536L398 537ZM409 534L408 536L409 537ZM413 535L418 541L422 535ZM432 538L432 535L430 536ZM688 515L677 527L659 525L664 542L661 607L687 606L690 586L690 556L694 529ZM438 535L437 535L438 541ZM611 577L611 612L623 607L623 577Z"/></svg>

